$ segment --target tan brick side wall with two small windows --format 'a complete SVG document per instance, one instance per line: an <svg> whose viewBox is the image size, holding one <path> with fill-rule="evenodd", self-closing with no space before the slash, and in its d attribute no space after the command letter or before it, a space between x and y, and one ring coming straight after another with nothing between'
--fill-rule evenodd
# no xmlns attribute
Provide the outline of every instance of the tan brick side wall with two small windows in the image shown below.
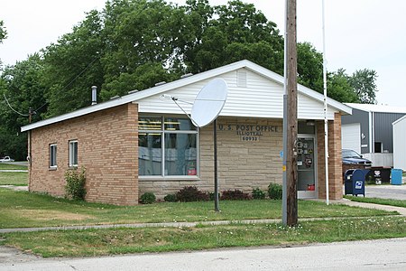
<svg viewBox="0 0 406 271"><path fill-rule="evenodd" d="M87 169L87 201L120 205L138 202L138 109L126 104L32 130L29 189L64 195L69 140L78 140L78 168ZM57 144L58 168L49 167Z"/></svg>

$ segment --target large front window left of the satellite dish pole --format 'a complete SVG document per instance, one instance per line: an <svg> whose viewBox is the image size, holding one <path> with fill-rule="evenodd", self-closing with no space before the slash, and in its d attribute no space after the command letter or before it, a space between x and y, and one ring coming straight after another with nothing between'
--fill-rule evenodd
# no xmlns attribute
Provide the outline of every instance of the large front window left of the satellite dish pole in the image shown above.
<svg viewBox="0 0 406 271"><path fill-rule="evenodd" d="M140 117L138 139L141 176L197 175L198 129L188 117Z"/></svg>

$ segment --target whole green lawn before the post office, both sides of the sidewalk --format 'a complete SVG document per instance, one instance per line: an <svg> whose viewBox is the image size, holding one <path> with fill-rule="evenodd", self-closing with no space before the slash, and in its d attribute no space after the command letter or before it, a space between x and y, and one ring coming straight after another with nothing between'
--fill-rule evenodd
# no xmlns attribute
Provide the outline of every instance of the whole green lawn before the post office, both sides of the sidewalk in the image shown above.
<svg viewBox="0 0 406 271"><path fill-rule="evenodd" d="M369 238L406 237L406 220L396 212L318 201L298 202L300 225L242 224L239 220L281 220L281 201L161 202L114 206L69 201L46 194L0 188L0 228L99 225L138 222L233 220L222 226L43 230L0 234L0 245L42 257L84 257L208 248L291 246ZM326 218L327 220L301 220ZM334 219L330 219L334 218Z"/></svg>

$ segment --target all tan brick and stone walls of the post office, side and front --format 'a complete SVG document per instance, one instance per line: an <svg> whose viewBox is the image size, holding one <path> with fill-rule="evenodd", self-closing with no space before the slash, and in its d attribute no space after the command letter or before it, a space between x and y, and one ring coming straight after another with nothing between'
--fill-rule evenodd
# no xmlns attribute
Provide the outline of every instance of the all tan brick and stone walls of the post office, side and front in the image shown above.
<svg viewBox="0 0 406 271"><path fill-rule="evenodd" d="M32 131L30 191L64 195L69 140L78 140L78 166L87 168L87 201L137 204L143 192L158 198L184 186L214 191L213 125L200 129L200 177L197 180L138 180L138 113L128 104L73 118ZM325 198L324 126L318 122L318 198ZM243 140L243 136L254 140ZM49 168L49 145L58 145L58 169ZM281 183L282 121L243 117L217 120L220 191L267 189ZM341 117L329 123L330 199L342 198Z"/></svg>

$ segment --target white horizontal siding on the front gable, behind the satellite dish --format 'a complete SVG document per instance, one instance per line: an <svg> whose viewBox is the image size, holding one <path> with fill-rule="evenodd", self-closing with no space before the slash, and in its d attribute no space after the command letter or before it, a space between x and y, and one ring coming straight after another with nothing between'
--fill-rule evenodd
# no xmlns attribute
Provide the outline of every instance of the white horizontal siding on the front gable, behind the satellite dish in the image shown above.
<svg viewBox="0 0 406 271"><path fill-rule="evenodd" d="M238 81L237 86L238 70L217 76L225 79L228 87L226 105L223 107L220 116L282 118L283 86L279 82L267 79L252 70L242 69L246 72L246 88L238 87L242 85L241 81ZM214 78L171 89L166 91L165 94L179 98L180 107L189 114L192 106L185 103L185 101L192 103L198 95L198 91L211 79ZM162 99L160 96L161 94L157 94L136 101L139 104L139 111L142 113L184 114L171 99ZM331 107L328 108L328 119L334 118L334 112L337 112L337 110ZM323 119L323 117L322 103L301 93L298 94L299 119Z"/></svg>

